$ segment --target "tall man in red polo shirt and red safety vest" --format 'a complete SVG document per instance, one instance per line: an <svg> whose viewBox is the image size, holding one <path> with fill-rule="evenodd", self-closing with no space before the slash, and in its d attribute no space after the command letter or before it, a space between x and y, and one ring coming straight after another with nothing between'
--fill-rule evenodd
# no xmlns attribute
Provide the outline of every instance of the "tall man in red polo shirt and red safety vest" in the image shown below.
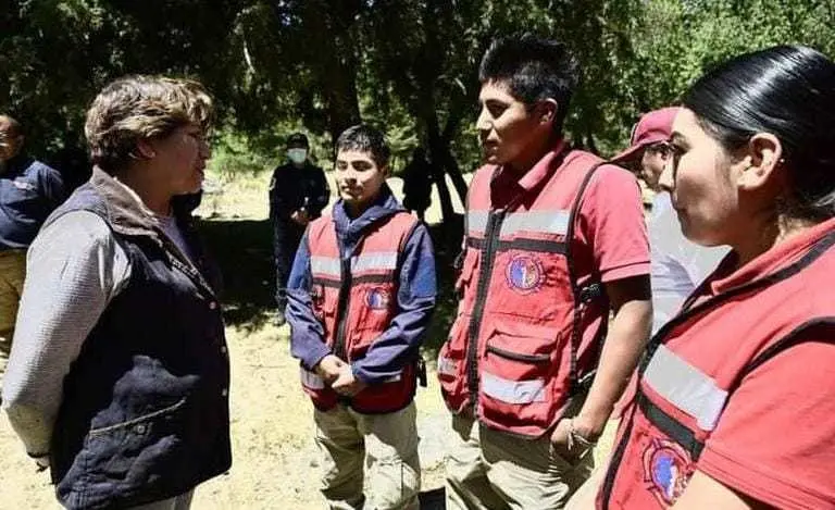
<svg viewBox="0 0 835 510"><path fill-rule="evenodd" d="M456 431L449 509L562 508L649 333L637 182L563 138L577 74L562 45L529 35L496 40L481 63L487 164L438 357Z"/></svg>

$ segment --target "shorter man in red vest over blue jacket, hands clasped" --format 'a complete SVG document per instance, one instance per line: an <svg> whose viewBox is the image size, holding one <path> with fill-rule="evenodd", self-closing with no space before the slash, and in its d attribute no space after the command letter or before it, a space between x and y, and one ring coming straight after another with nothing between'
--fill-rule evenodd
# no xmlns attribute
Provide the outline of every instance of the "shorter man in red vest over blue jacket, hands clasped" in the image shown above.
<svg viewBox="0 0 835 510"><path fill-rule="evenodd" d="M416 510L413 397L435 307L432 241L386 185L383 135L358 125L336 145L341 199L308 227L288 284L291 351L315 407L322 494L328 508Z"/></svg>

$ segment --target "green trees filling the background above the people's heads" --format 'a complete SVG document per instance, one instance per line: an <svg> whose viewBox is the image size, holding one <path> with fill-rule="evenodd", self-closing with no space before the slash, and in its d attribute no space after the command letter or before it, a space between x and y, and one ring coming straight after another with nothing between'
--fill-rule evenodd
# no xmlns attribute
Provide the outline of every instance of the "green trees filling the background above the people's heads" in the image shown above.
<svg viewBox="0 0 835 510"><path fill-rule="evenodd" d="M495 36L569 45L583 84L566 130L607 154L706 69L775 43L832 55L833 26L831 0L0 0L0 110L54 153L83 146L86 107L109 80L191 76L249 150L273 151L299 122L333 141L360 120L385 127L397 160L426 145L449 217L444 176L463 198L477 64Z"/></svg>

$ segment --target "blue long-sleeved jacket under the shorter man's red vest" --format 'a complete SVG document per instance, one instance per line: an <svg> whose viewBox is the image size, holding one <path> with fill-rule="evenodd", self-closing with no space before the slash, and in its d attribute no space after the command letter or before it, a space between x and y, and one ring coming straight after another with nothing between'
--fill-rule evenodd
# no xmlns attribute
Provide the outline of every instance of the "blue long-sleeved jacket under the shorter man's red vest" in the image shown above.
<svg viewBox="0 0 835 510"><path fill-rule="evenodd" d="M340 240L341 257L350 258L363 232L374 222L397 211L403 211L403 208L385 185L374 204L356 220L348 216L344 201L337 201L333 222ZM399 374L406 363L413 361L432 319L436 295L435 256L425 225L420 224L407 240L399 272L398 314L365 357L352 365L354 376L365 384L382 383ZM307 369L313 370L332 350L324 341L322 323L313 314L310 293L310 248L306 234L287 284L287 321L292 331L292 356L301 360Z"/></svg>

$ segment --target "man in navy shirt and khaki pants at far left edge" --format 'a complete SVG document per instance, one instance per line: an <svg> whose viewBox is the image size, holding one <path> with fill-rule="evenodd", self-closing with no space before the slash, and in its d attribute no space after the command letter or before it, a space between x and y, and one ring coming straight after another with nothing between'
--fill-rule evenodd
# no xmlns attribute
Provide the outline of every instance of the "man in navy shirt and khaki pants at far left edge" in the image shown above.
<svg viewBox="0 0 835 510"><path fill-rule="evenodd" d="M12 349L26 249L66 195L61 175L23 151L21 124L0 115L0 387Z"/></svg>

